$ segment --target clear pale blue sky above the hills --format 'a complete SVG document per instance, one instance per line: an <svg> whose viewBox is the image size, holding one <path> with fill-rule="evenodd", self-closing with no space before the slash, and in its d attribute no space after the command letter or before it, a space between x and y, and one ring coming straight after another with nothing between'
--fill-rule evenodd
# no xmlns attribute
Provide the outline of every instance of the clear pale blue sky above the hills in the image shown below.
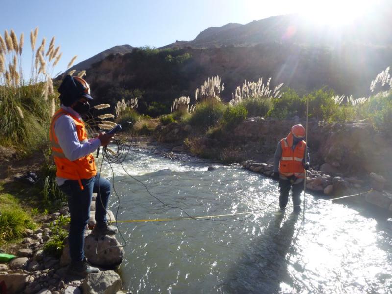
<svg viewBox="0 0 392 294"><path fill-rule="evenodd" d="M329 0L329 3L353 0ZM358 0L357 0L358 1ZM361 1L361 0L359 0ZM29 34L39 27L42 37L52 36L63 57L54 73L64 71L74 55L83 61L116 45L161 47L175 40L192 40L211 26L246 24L272 15L315 6L314 0L1 0L0 32L14 29L25 35L24 69L29 71ZM320 0L318 3L325 2ZM319 4L318 4L319 5ZM48 45L47 45L48 46ZM29 55L30 54L30 55Z"/></svg>

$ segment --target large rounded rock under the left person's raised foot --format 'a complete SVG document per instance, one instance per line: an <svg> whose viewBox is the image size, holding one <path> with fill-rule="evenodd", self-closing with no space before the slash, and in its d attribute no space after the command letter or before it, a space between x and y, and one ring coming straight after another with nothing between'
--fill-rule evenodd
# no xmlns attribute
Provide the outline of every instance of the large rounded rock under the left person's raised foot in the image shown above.
<svg viewBox="0 0 392 294"><path fill-rule="evenodd" d="M97 240L89 235L85 239L84 251L92 264L102 267L118 266L124 257L124 249L115 236L102 236Z"/></svg>

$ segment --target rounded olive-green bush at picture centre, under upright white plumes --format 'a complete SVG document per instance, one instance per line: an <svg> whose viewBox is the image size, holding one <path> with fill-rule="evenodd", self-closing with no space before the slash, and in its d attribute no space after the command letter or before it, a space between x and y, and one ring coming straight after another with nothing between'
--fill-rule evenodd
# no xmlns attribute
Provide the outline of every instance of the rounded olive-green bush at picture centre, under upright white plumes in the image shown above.
<svg viewBox="0 0 392 294"><path fill-rule="evenodd" d="M196 105L189 123L196 127L208 128L215 125L223 118L226 105L218 101L209 100Z"/></svg>

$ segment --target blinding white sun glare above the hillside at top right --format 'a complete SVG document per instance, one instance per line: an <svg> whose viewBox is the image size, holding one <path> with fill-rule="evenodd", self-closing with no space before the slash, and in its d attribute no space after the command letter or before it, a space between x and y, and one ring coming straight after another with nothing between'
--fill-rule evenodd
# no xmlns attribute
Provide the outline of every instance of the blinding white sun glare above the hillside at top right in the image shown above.
<svg viewBox="0 0 392 294"><path fill-rule="evenodd" d="M300 14L314 25L341 27L364 15L374 0L312 0L305 1Z"/></svg>

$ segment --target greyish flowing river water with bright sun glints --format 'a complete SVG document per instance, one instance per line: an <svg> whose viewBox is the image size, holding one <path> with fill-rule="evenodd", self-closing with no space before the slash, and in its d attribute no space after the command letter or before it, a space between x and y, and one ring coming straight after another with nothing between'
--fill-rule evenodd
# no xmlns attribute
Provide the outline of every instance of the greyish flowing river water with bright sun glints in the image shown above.
<svg viewBox="0 0 392 294"><path fill-rule="evenodd" d="M211 163L145 152L131 152L123 166L153 195L193 216L264 209L278 199L276 182L239 166L214 164L207 171ZM185 216L149 195L121 165L112 167L118 220ZM102 175L111 176L106 163ZM307 198L319 202L306 208L304 218L292 208L279 215L275 202L244 221L119 224L127 242L120 266L125 289L134 294L391 293L391 219L351 201ZM110 206L115 213L115 195Z"/></svg>

